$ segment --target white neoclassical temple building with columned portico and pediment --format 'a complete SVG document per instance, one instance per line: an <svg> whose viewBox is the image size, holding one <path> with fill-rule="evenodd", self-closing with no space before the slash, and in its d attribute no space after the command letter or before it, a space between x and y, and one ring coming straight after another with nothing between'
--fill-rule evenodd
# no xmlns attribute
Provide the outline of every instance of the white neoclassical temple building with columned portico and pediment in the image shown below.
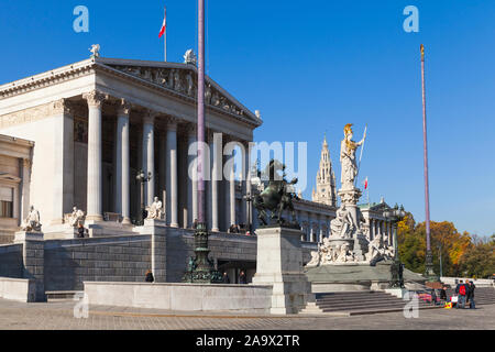
<svg viewBox="0 0 495 352"><path fill-rule="evenodd" d="M167 226L190 228L198 212L188 177L196 77L189 64L96 57L0 86L0 133L35 145L30 202L44 232L56 231L74 206L86 223L118 222L125 231L140 218L140 170L151 174L145 205L157 196ZM246 148L262 121L210 78L205 96L209 169L218 177L233 157L224 146ZM246 185L239 194L234 180L207 182L211 231L245 222Z"/></svg>

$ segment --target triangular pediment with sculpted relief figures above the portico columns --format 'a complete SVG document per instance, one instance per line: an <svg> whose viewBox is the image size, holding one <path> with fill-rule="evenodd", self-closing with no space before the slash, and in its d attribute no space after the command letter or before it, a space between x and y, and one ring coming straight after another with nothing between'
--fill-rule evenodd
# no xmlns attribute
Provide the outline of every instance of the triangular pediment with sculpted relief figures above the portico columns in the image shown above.
<svg viewBox="0 0 495 352"><path fill-rule="evenodd" d="M197 99L197 68L190 64L143 62L130 59L98 58L97 64L160 86L185 98ZM222 112L251 120L256 125L262 121L211 78L205 78L205 105Z"/></svg>

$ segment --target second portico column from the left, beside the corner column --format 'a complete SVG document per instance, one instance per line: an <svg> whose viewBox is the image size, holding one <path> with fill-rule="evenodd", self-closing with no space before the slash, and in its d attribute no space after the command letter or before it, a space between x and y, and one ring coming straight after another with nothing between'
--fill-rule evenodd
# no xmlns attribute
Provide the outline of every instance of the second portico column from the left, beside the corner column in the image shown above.
<svg viewBox="0 0 495 352"><path fill-rule="evenodd" d="M117 112L116 211L122 215L122 223L131 223L129 114L131 105L120 101Z"/></svg>

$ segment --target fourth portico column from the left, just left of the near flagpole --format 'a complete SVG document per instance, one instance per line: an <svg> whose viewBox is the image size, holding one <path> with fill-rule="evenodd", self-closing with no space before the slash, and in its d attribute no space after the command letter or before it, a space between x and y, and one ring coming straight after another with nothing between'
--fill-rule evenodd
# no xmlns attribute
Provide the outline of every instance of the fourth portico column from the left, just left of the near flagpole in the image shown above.
<svg viewBox="0 0 495 352"><path fill-rule="evenodd" d="M167 155L166 184L167 184L167 222L178 228L177 218L177 122L170 120L167 125Z"/></svg>

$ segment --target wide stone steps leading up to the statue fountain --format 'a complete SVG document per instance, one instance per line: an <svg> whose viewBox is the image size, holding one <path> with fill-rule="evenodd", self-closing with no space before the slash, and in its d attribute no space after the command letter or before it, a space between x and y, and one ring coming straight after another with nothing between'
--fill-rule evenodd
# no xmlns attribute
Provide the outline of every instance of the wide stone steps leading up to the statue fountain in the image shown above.
<svg viewBox="0 0 495 352"><path fill-rule="evenodd" d="M300 314L345 314L348 316L402 311L407 301L384 292L339 292L317 294L316 302ZM419 300L419 309L441 308Z"/></svg>

